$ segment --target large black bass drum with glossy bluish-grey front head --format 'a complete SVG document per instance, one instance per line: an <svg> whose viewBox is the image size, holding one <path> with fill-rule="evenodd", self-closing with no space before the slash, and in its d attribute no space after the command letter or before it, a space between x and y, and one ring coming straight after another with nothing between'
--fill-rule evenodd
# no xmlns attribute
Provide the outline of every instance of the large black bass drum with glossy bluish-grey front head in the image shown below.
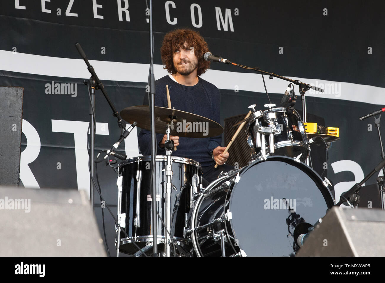
<svg viewBox="0 0 385 283"><path fill-rule="evenodd" d="M293 158L259 159L197 194L185 234L197 256L294 256L296 238L335 205L326 184Z"/></svg>

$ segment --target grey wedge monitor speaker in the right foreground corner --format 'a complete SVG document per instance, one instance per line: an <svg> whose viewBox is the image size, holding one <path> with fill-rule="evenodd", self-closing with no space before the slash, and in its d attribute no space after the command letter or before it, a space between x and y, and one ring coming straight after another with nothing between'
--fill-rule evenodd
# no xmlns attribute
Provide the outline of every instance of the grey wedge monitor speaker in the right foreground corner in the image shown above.
<svg viewBox="0 0 385 283"><path fill-rule="evenodd" d="M385 256L385 211L330 209L296 256Z"/></svg>

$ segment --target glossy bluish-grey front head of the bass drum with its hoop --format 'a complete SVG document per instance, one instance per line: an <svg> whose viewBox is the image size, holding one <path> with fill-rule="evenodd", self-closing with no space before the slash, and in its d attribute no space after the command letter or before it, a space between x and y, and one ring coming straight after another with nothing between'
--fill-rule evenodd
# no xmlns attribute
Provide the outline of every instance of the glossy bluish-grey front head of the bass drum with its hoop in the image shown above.
<svg viewBox="0 0 385 283"><path fill-rule="evenodd" d="M247 256L294 256L294 221L313 225L335 204L320 176L293 158L268 157L239 177L227 194L232 219L226 230L234 235L234 251Z"/></svg>

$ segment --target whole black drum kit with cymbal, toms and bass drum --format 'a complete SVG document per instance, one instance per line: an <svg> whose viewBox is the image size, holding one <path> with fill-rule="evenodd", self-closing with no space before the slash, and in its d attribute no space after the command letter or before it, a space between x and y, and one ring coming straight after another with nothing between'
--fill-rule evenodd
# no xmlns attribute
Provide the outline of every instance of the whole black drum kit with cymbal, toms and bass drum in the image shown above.
<svg viewBox="0 0 385 283"><path fill-rule="evenodd" d="M305 162L309 139L301 116L293 107L257 110L249 106L244 131L253 161L222 173L203 188L198 162L156 156L156 208L153 223L151 156L122 161L118 166L117 254L151 255L152 225L157 225L157 246L163 256L294 256L301 239L327 209L335 205L330 182ZM150 129L148 106L121 111L129 123ZM177 121L209 122L209 137L223 128L207 118L155 107L156 132L203 137L197 132L175 132ZM207 137L207 136L205 136ZM235 137L233 137L235 138ZM124 228L126 234L121 229ZM138 250L139 249L139 250Z"/></svg>

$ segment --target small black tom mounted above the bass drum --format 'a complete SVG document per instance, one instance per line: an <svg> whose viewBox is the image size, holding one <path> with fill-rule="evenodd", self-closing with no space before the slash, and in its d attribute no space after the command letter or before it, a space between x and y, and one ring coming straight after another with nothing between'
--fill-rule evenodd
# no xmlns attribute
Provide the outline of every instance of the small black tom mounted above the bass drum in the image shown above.
<svg viewBox="0 0 385 283"><path fill-rule="evenodd" d="M258 152L260 154L261 151L261 147L257 146L256 128L268 125L264 119L268 112L269 110L255 112L253 119L247 125L248 144L256 154ZM295 110L288 112L283 107L273 108L271 112L276 114L276 125L281 131L280 134L274 135L274 155L295 157L302 154L300 160L305 161L309 154L309 141L300 115ZM265 144L267 152L269 152L269 136L266 136Z"/></svg>

